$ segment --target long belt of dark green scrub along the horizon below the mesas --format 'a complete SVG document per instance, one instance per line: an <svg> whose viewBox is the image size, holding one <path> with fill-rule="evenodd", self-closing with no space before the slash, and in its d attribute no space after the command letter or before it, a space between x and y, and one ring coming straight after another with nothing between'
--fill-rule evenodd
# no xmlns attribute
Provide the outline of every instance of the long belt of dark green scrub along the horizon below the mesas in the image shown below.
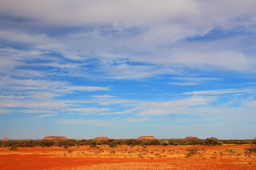
<svg viewBox="0 0 256 170"><path fill-rule="evenodd" d="M96 145L108 145L110 147L116 147L118 145L132 145L132 146L144 146L144 145L221 145L221 144L256 144L256 139L249 140L219 140L215 137L206 138L205 140L137 140L137 139L108 139L108 140L9 140L0 141L0 147L10 147L15 150L18 147L49 147L49 146L83 146L88 145L95 147ZM253 149L252 149L253 151Z"/></svg>

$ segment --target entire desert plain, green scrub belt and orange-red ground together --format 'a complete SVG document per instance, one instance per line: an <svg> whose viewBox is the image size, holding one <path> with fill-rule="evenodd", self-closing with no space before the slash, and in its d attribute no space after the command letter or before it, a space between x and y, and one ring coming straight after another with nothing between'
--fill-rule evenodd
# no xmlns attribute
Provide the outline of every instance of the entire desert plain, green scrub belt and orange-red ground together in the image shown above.
<svg viewBox="0 0 256 170"><path fill-rule="evenodd" d="M148 141L10 140L0 143L0 163L6 169L255 169L255 144L256 139L215 137Z"/></svg>

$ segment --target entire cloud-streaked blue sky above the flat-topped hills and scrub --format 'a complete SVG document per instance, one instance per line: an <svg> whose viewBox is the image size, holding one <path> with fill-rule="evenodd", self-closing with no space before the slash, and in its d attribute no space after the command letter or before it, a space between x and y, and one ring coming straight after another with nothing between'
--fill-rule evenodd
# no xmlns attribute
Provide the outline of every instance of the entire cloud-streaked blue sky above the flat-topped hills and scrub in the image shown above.
<svg viewBox="0 0 256 170"><path fill-rule="evenodd" d="M0 138L252 139L256 2L0 5Z"/></svg>

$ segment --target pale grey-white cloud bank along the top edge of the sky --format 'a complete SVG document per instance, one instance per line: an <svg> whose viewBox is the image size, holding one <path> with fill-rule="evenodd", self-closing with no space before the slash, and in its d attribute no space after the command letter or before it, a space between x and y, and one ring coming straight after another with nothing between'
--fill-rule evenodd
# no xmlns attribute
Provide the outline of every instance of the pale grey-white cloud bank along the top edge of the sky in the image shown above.
<svg viewBox="0 0 256 170"><path fill-rule="evenodd" d="M24 5L26 4L26 5ZM145 5L147 4L147 5ZM236 25L244 14L255 14L255 1L5 1L1 10L12 15L34 16L44 24L91 25L113 24L141 25L155 24L176 19L187 24L211 26L213 23L227 27L234 19ZM239 8L236 8L239 6ZM211 8L210 8L211 7ZM233 10L236 9L236 10ZM45 11L48 11L45 13ZM74 12L76 11L76 12ZM118 15L117 15L118 14ZM179 23L178 21L176 21ZM216 22L216 23L215 23ZM241 22L241 21L240 21ZM244 24L250 24L244 23ZM196 27L195 25L194 27ZM193 27L192 27L193 28Z"/></svg>

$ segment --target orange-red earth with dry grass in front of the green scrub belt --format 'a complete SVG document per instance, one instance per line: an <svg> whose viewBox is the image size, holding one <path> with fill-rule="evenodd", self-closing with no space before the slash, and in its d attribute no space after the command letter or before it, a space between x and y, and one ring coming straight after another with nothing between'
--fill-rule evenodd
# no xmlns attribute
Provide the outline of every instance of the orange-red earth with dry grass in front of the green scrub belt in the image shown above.
<svg viewBox="0 0 256 170"><path fill-rule="evenodd" d="M0 148L0 169L256 169L250 145ZM199 151L186 158L186 149ZM234 148L229 153L227 148Z"/></svg>

